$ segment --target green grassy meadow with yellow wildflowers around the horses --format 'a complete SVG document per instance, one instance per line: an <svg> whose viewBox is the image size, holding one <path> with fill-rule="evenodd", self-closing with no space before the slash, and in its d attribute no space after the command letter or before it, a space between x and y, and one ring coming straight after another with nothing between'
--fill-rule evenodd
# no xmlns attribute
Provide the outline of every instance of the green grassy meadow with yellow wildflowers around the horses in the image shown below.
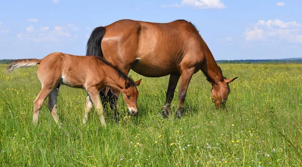
<svg viewBox="0 0 302 167"><path fill-rule="evenodd" d="M61 86L56 124L44 105L37 125L33 101L41 85L36 66L6 73L0 65L1 166L299 166L302 165L302 65L219 64L230 84L226 108L217 110L211 85L193 75L181 119L162 117L169 76L133 71L138 115L129 117L122 98L101 127L93 110L82 124L86 92ZM179 85L178 85L179 86ZM46 100L47 102L47 100ZM46 103L47 104L47 103Z"/></svg>

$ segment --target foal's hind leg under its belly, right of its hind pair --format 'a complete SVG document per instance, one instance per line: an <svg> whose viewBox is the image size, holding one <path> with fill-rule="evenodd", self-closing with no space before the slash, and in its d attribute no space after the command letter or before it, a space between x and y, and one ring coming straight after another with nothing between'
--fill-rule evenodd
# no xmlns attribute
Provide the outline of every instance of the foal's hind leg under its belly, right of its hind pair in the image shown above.
<svg viewBox="0 0 302 167"><path fill-rule="evenodd" d="M53 117L53 120L58 123L59 118L57 115L57 96L59 92L60 84L54 88L48 96L48 109Z"/></svg>

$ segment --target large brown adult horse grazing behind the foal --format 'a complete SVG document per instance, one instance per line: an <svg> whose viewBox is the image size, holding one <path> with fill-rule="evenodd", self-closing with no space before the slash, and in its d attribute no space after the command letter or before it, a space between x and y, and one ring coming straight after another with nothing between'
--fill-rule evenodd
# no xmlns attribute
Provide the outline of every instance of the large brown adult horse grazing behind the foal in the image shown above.
<svg viewBox="0 0 302 167"><path fill-rule="evenodd" d="M211 97L216 108L224 107L230 93L229 83L213 55L193 24L185 20L171 23L149 23L120 20L93 30L87 43L87 56L102 56L122 72L129 70L148 77L170 74L166 104L166 117L180 78L178 109L182 116L187 88L194 73L201 70L212 84ZM118 98L119 91L112 90ZM104 96L101 92L100 95ZM114 104L113 104L114 105Z"/></svg>

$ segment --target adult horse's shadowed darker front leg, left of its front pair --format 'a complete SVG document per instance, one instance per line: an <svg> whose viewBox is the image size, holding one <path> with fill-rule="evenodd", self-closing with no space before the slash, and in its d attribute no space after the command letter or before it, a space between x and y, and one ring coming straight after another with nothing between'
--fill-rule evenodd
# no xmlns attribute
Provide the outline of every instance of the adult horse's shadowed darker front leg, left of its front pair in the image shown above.
<svg viewBox="0 0 302 167"><path fill-rule="evenodd" d="M166 104L163 107L163 116L166 118L169 115L170 105L174 97L174 92L179 80L179 74L171 74L169 79L169 86L166 94Z"/></svg>

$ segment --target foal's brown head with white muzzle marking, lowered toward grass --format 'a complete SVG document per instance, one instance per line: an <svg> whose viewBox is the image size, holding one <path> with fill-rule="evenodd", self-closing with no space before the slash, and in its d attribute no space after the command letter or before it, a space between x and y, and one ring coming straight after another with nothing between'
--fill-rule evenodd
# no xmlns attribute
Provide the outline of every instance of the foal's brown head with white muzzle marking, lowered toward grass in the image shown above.
<svg viewBox="0 0 302 167"><path fill-rule="evenodd" d="M141 79L133 81L131 79L127 79L125 81L125 88L121 91L123 95L123 99L127 105L129 110L129 115L135 116L137 114L137 97L138 91L137 86L139 86Z"/></svg>

